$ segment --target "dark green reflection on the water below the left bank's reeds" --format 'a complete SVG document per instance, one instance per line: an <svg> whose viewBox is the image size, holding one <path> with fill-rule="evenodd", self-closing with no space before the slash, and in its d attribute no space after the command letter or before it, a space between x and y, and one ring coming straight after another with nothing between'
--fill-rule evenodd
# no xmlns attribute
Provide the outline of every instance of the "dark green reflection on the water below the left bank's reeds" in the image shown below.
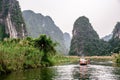
<svg viewBox="0 0 120 80"><path fill-rule="evenodd" d="M0 76L0 80L53 80L54 68L31 69Z"/></svg>

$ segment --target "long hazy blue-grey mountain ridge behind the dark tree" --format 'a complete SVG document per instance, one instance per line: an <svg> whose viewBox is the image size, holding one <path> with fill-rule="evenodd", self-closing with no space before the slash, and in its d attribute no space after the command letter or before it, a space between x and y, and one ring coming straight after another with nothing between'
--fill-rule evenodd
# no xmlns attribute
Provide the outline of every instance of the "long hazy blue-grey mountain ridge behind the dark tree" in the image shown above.
<svg viewBox="0 0 120 80"><path fill-rule="evenodd" d="M58 42L58 52L67 54L64 44L63 32L55 25L50 16L43 16L40 13L34 13L31 10L23 11L23 17L26 23L28 35L36 38L40 34L46 34L53 41Z"/></svg>

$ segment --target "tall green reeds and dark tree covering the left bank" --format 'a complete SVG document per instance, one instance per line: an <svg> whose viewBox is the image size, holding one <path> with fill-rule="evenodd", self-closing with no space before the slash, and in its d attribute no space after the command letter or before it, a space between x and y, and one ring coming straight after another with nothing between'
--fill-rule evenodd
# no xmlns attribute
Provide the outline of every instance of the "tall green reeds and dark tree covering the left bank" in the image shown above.
<svg viewBox="0 0 120 80"><path fill-rule="evenodd" d="M46 35L37 39L4 39L0 42L0 73L52 66L70 59L57 54L56 43ZM69 59L69 60L68 60Z"/></svg>

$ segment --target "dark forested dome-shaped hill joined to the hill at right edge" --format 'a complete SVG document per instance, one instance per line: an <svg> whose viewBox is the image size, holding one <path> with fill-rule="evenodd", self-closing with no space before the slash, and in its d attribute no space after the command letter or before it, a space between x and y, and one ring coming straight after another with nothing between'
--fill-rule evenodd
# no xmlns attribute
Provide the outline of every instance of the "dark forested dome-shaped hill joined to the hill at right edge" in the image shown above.
<svg viewBox="0 0 120 80"><path fill-rule="evenodd" d="M99 39L89 20L82 16L74 24L70 55L111 55L120 52L120 22L113 30L112 38L106 42Z"/></svg>

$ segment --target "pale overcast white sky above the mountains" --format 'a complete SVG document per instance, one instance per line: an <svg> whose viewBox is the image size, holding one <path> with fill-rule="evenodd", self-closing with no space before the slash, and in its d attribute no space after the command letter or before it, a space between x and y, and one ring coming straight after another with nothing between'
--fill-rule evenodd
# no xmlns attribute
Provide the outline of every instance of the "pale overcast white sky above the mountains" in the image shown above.
<svg viewBox="0 0 120 80"><path fill-rule="evenodd" d="M120 22L120 0L18 0L21 10L33 10L50 16L63 31L72 35L80 16L89 18L100 37L110 34Z"/></svg>

